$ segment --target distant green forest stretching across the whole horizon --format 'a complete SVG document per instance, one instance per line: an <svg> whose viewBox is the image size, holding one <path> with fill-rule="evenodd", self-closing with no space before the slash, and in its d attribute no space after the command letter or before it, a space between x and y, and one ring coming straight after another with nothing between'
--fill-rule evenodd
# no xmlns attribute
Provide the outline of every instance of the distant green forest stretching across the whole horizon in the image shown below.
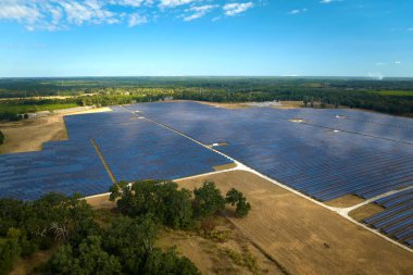
<svg viewBox="0 0 413 275"><path fill-rule="evenodd" d="M388 92L387 92L388 91ZM111 105L174 99L214 102L304 101L320 107L361 108L391 114L413 113L413 79L281 77L100 77L3 78L0 98L74 96L68 99L8 100L10 105ZM41 109L41 108L39 108ZM32 110L32 109L30 109ZM1 120L0 115L0 120Z"/></svg>

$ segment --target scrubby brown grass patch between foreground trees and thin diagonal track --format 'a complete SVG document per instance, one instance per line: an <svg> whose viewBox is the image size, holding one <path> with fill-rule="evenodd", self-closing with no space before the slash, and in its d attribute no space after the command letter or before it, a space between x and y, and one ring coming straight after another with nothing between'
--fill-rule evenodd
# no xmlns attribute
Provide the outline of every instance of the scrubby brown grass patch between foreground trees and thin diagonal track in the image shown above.
<svg viewBox="0 0 413 275"><path fill-rule="evenodd" d="M165 229L158 237L162 249L176 247L202 274L284 274L224 217L210 233Z"/></svg>

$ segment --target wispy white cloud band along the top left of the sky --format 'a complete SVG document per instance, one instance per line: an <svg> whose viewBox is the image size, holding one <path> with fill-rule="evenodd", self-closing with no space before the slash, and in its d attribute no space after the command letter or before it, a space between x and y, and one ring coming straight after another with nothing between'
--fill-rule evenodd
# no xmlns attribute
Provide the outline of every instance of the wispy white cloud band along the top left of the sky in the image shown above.
<svg viewBox="0 0 413 275"><path fill-rule="evenodd" d="M14 21L28 30L59 30L87 24L137 26L155 22L159 16L180 14L184 21L201 18L222 7L222 16L235 16L254 7L254 2L234 0L0 0L1 21ZM171 10L171 11L168 11Z"/></svg>

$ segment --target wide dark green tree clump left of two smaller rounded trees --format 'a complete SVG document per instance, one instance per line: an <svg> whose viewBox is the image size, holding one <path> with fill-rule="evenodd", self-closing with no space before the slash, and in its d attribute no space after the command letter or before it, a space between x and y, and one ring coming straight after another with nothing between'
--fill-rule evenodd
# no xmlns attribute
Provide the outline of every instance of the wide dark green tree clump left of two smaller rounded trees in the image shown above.
<svg viewBox="0 0 413 275"><path fill-rule="evenodd" d="M178 190L172 182L141 180L111 188L111 200L125 215L151 216L155 222L173 227L191 226L191 196L186 189Z"/></svg>

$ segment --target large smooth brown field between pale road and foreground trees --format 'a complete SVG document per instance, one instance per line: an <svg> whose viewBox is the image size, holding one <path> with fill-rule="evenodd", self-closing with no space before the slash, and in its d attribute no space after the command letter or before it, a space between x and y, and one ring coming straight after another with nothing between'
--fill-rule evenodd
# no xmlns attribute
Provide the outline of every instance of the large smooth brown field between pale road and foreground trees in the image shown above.
<svg viewBox="0 0 413 275"><path fill-rule="evenodd" d="M177 180L192 189L204 179L223 192L235 187L252 210L230 221L291 274L411 274L412 253L340 215L252 173L234 171Z"/></svg>

